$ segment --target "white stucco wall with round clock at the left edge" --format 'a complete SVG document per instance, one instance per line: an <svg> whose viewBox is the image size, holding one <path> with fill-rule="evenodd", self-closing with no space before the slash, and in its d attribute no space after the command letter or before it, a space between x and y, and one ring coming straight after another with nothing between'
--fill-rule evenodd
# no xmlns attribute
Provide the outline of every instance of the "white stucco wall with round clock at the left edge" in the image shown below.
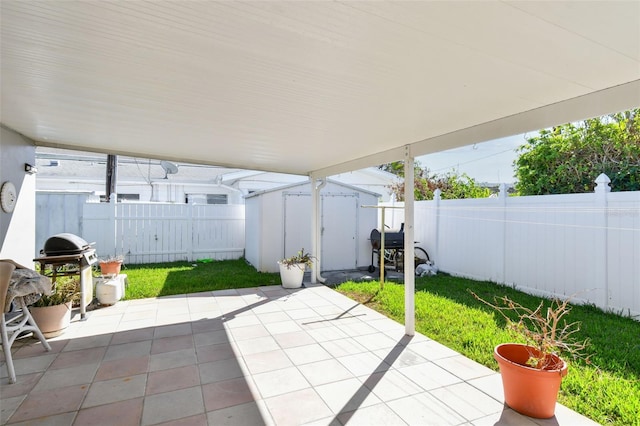
<svg viewBox="0 0 640 426"><path fill-rule="evenodd" d="M0 258L33 266L36 238L36 175L24 171L35 164L35 145L13 130L0 126L0 185L12 182L18 193L15 209L0 209Z"/></svg>

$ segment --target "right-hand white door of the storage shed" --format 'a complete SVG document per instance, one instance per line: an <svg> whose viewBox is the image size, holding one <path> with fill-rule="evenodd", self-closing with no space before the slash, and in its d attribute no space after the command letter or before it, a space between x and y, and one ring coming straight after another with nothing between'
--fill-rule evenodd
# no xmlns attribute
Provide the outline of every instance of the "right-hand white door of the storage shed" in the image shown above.
<svg viewBox="0 0 640 426"><path fill-rule="evenodd" d="M322 197L322 270L355 269L358 259L358 198Z"/></svg>

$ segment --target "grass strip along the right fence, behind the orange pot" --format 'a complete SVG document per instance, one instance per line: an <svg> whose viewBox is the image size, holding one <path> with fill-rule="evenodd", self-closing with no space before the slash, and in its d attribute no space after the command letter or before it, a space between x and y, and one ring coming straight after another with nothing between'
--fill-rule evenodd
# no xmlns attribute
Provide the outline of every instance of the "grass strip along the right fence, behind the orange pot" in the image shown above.
<svg viewBox="0 0 640 426"><path fill-rule="evenodd" d="M344 283L338 291L404 322L404 287L387 283ZM493 348L513 341L504 319L473 298L509 296L531 308L540 298L489 282L438 275L416 279L416 330L494 370ZM589 338L590 364L568 360L559 402L602 424L640 425L640 322L573 306L567 320L580 321L578 339Z"/></svg>

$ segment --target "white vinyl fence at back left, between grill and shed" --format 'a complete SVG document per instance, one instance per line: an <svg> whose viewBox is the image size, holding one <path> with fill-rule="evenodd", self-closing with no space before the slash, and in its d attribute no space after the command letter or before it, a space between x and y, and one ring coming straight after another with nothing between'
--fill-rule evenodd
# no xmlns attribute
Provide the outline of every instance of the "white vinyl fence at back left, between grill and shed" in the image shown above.
<svg viewBox="0 0 640 426"><path fill-rule="evenodd" d="M38 248L70 232L95 242L99 257L121 254L127 263L244 255L244 205L92 203L78 194L38 194L37 204Z"/></svg>

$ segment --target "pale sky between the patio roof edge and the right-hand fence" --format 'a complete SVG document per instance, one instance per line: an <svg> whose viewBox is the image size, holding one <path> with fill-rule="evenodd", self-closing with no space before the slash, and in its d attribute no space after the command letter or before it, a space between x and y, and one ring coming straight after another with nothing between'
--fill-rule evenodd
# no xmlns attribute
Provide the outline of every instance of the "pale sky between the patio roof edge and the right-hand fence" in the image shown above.
<svg viewBox="0 0 640 426"><path fill-rule="evenodd" d="M513 183L516 148L526 142L525 135L509 136L476 145L416 157L431 173L466 173L478 182Z"/></svg>

